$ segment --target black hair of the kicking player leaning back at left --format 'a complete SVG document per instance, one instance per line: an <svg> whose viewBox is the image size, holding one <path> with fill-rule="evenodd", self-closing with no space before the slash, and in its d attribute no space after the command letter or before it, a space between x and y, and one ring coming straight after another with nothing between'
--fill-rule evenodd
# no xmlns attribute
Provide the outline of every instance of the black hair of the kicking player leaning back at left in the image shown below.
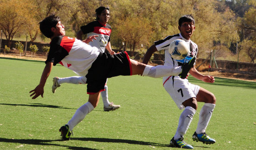
<svg viewBox="0 0 256 150"><path fill-rule="evenodd" d="M46 17L39 23L40 31L47 38L51 38L54 35L54 33L51 31L51 28L52 27L56 28L56 25L58 24L59 21L60 21L60 17L55 16L54 14Z"/></svg>

